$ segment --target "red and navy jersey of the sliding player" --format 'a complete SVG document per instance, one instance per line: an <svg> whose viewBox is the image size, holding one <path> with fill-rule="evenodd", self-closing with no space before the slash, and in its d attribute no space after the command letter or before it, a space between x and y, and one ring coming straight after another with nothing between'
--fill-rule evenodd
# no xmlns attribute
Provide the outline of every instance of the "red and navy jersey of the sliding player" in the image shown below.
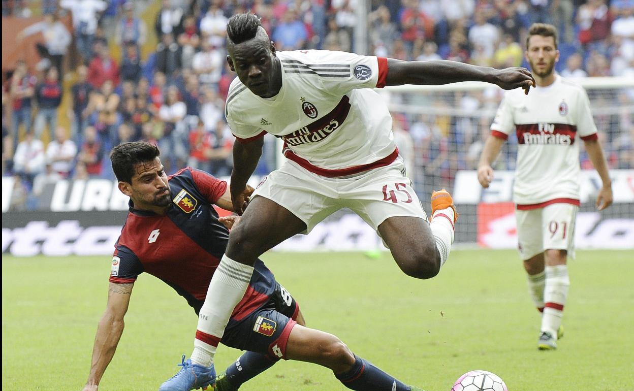
<svg viewBox="0 0 634 391"><path fill-rule="evenodd" d="M115 243L111 283L133 283L142 272L161 279L198 314L227 246L229 231L213 207L227 183L187 167L168 178L172 202L165 215L134 208ZM273 273L260 260L231 316L240 320L275 292Z"/></svg>

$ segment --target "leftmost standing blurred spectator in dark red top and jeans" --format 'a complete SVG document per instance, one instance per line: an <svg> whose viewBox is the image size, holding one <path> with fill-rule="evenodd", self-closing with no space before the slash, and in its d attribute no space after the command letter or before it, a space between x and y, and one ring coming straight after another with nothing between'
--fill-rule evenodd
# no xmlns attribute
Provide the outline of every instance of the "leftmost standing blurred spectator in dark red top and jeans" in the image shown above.
<svg viewBox="0 0 634 391"><path fill-rule="evenodd" d="M37 79L29 74L27 63L19 60L16 63L15 71L9 80L9 98L13 101L13 112L11 113L11 135L13 137L13 151L16 151L18 139L20 138L20 124L24 125L25 132L31 129L31 99L35 92Z"/></svg>

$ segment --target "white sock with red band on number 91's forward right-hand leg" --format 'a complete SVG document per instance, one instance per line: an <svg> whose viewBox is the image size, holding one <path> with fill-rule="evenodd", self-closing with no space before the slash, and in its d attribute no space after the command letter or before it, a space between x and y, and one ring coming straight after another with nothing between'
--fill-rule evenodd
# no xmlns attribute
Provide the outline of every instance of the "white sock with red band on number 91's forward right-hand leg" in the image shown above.
<svg viewBox="0 0 634 391"><path fill-rule="evenodd" d="M557 330L564 316L564 305L568 297L570 279L568 267L564 265L546 267L546 286L544 288L544 315L541 318L541 331L547 331L557 338Z"/></svg>

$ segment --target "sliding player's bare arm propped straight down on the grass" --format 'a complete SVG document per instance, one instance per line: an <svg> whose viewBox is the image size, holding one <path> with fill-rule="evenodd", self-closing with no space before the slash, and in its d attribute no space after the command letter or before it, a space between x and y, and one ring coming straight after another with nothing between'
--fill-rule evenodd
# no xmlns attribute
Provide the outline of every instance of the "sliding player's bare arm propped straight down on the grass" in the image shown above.
<svg viewBox="0 0 634 391"><path fill-rule="evenodd" d="M83 391L97 391L101 376L115 355L115 349L123 334L123 318L130 303L133 286L134 283L110 283L108 287L108 304L94 337L93 362Z"/></svg>

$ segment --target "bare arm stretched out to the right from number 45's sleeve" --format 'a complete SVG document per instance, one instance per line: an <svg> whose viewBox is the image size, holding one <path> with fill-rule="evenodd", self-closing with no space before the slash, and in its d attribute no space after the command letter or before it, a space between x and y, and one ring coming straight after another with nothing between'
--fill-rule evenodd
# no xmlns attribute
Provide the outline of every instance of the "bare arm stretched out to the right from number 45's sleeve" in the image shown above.
<svg viewBox="0 0 634 391"><path fill-rule="evenodd" d="M458 61L403 61L387 60L386 86L403 84L450 84L465 81L481 81L497 84L503 89L521 87L528 93L535 86L533 75L526 68L495 69L478 67Z"/></svg>

